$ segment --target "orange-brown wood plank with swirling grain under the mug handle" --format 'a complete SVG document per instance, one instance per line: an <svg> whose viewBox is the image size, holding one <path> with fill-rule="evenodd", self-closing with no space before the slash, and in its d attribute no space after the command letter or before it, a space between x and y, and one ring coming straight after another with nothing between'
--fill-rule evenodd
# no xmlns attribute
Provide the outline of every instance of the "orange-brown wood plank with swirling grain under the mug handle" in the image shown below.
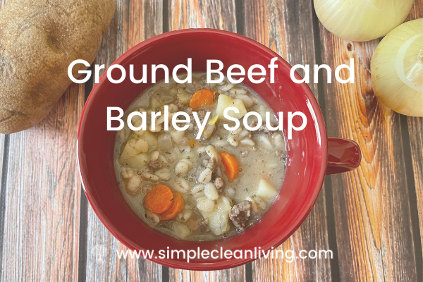
<svg viewBox="0 0 423 282"><path fill-rule="evenodd" d="M329 135L362 148L360 168L331 176L341 281L417 281L400 116L377 101L369 71L379 39L320 30L332 70L355 59L354 84L324 85Z"/></svg>

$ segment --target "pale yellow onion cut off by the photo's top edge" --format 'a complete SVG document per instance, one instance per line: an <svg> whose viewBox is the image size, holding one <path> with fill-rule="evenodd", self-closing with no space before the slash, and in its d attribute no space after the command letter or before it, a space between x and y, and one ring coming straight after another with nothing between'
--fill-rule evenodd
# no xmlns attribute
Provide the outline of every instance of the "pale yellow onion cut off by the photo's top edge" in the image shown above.
<svg viewBox="0 0 423 282"><path fill-rule="evenodd" d="M407 18L413 0L314 0L317 18L345 40L383 37Z"/></svg>

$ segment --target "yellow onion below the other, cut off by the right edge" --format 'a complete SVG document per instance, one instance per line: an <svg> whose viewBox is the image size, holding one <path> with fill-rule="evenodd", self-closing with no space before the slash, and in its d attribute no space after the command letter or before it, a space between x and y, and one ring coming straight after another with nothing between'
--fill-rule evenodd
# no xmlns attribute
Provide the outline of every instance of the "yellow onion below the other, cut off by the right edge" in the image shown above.
<svg viewBox="0 0 423 282"><path fill-rule="evenodd" d="M423 19L396 27L382 39L371 63L374 94L406 116L423 116Z"/></svg>

